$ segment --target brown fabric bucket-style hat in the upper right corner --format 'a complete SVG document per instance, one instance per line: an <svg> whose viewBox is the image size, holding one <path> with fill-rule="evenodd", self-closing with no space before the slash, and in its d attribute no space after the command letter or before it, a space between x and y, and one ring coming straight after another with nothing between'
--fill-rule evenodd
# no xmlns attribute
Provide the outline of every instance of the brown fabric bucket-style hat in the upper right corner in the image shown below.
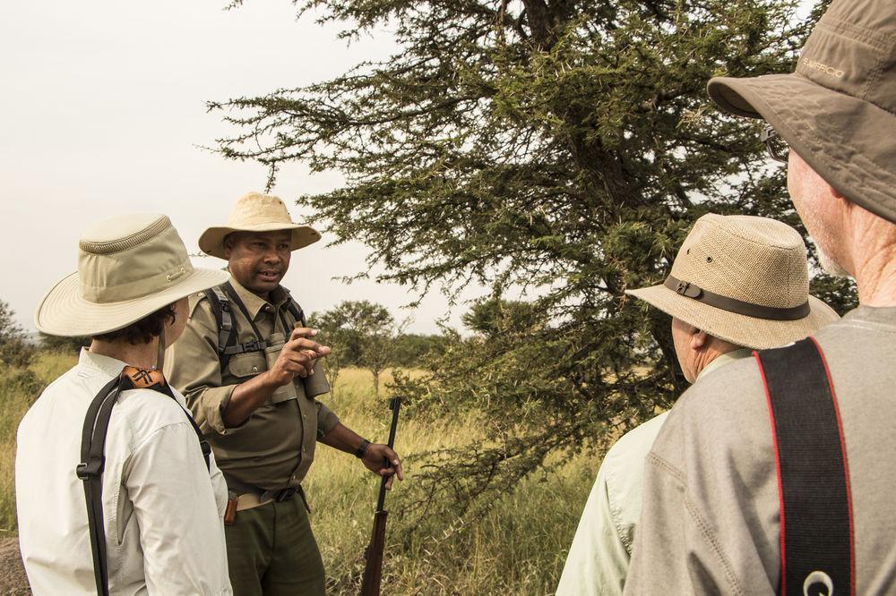
<svg viewBox="0 0 896 596"><path fill-rule="evenodd" d="M796 72L711 79L722 109L764 118L847 199L896 223L896 2L834 0Z"/></svg>

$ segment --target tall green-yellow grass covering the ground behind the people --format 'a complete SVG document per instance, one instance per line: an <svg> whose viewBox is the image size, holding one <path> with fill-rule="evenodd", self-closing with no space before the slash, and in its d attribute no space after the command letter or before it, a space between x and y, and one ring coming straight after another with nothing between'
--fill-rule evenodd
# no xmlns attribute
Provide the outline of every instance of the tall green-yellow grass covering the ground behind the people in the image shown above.
<svg viewBox="0 0 896 596"><path fill-rule="evenodd" d="M16 532L15 430L40 388L74 362L73 354L41 353L30 367L33 375L0 369L4 412L0 420L0 538ZM391 421L386 402L388 371L384 377L386 388L377 397L368 371L341 370L333 395L323 401L350 429L384 442ZM485 428L475 414L441 421L405 414L399 420L395 449L408 458L437 447L461 447L472 438L483 438ZM414 464L406 464L405 481L396 482L386 498L390 514L383 594L553 593L598 464L594 456L583 455L549 473L535 473L475 521L444 520L444 527L452 530L431 532L435 535L409 532L407 524L401 523L401 510L394 507L395 497L418 473ZM319 444L303 486L327 569L328 592L358 593L378 479L354 456Z"/></svg>

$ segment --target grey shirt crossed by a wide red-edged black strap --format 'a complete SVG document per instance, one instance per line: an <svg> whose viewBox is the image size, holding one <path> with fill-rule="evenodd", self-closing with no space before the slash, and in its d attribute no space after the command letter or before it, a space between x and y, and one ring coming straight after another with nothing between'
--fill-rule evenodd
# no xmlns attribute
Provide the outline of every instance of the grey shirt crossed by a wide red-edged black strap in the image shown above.
<svg viewBox="0 0 896 596"><path fill-rule="evenodd" d="M896 308L859 307L815 338L840 405L856 593L896 594ZM626 594L777 591L778 481L754 359L732 362L678 400L644 472ZM849 592L835 586L840 593Z"/></svg>

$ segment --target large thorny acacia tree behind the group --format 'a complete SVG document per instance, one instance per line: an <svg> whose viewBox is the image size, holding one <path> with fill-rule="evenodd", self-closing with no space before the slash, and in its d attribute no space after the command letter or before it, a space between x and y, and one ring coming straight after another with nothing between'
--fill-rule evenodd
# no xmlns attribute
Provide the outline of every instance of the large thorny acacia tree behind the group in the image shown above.
<svg viewBox="0 0 896 596"><path fill-rule="evenodd" d="M819 14L797 20L797 0L297 4L348 39L388 26L401 50L331 81L211 103L236 130L220 152L266 164L269 183L296 161L340 171L344 186L298 202L335 243L366 243L383 281L539 296L475 350L456 336L430 377L401 382L434 408L475 402L491 420L489 438L435 454L443 464L418 477L421 517L439 502L462 512L684 390L668 319L625 289L665 277L697 217L802 231L759 125L705 97L713 75L793 69ZM854 300L828 277L814 288L840 310Z"/></svg>

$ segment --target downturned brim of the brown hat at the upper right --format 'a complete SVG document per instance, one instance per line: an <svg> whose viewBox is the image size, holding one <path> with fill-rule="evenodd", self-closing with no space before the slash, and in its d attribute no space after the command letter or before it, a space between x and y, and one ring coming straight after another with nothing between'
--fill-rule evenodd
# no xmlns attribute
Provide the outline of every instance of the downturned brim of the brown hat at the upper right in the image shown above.
<svg viewBox="0 0 896 596"><path fill-rule="evenodd" d="M707 92L731 114L764 118L843 196L896 223L896 116L797 72L716 77Z"/></svg>

